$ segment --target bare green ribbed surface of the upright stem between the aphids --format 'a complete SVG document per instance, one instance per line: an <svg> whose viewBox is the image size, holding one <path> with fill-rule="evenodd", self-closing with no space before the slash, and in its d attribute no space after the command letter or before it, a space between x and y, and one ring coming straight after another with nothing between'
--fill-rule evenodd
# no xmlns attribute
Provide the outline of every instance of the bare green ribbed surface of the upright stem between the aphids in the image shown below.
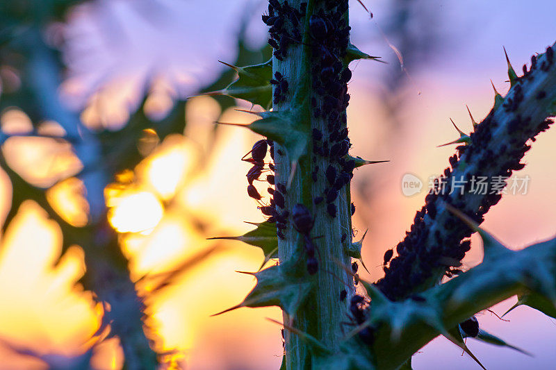
<svg viewBox="0 0 556 370"><path fill-rule="evenodd" d="M301 0L290 1L290 5L294 8L300 8ZM314 94L310 89L313 74L318 71L311 70L310 47L308 44L312 42L308 34L309 16L313 12L313 8L319 8L322 1L309 1L307 6L306 26L304 32L303 44L292 44L288 49L288 55L283 61L273 58L272 69L274 72L281 72L286 76L292 93L284 103L275 104L274 110L278 111L294 111L297 109L297 125L304 126L309 132L313 128L317 128L322 132L323 137L328 137L327 122L322 119L316 119L311 112L312 98L317 99L318 104L322 104L319 96ZM292 95L293 94L293 99ZM298 109L302 107L302 109ZM345 115L345 112L343 112ZM279 183L288 183L293 167L291 160L286 155L279 155L277 151L281 149L278 144L275 146L275 163L276 163L276 180ZM347 304L350 296L354 294L352 276L347 274L344 267L349 267L351 258L345 251L345 244L351 242L350 225L350 197L349 186L345 192L338 196L334 202L338 210L335 218L327 215L326 203L314 205L313 199L321 195L326 184L326 178L323 176L324 170L329 165L329 161L325 158L318 157L313 162L311 156L312 142L307 142L308 155L300 158L299 164L295 169L295 176L291 181L286 196L286 209L292 210L297 203L303 203L311 211L315 224L311 231L311 237L317 237L313 242L318 249L316 256L318 258L318 274L311 277L314 279L314 289L307 298L306 303L298 310L295 317L289 317L284 312L284 322L292 323L295 328L313 335L319 339L328 348L338 348L343 331L341 322L347 320ZM320 168L318 180L313 182L311 172L315 167ZM346 234L345 241L341 242L341 237ZM304 258L303 238L300 233L291 227L289 221L288 228L285 230L285 239L279 239L279 260L281 263L291 260L292 258ZM348 298L340 301L340 292L345 289ZM310 369L309 348L300 337L286 330L286 366L287 369Z"/></svg>

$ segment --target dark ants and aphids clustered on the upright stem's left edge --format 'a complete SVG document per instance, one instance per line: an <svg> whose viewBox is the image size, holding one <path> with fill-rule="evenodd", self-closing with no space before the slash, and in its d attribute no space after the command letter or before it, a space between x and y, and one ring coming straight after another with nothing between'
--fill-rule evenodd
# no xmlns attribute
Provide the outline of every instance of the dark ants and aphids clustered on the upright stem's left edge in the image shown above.
<svg viewBox="0 0 556 370"><path fill-rule="evenodd" d="M265 158L266 154L270 151L270 158L272 161L274 160L274 142L272 140L263 139L259 140L255 144L253 144L252 149L249 153L243 155L241 160L245 162L252 163L253 167L249 171L247 171L247 194L259 201L261 204L259 206L259 210L263 213L263 215L267 218L272 224L276 224L277 228L277 235L284 239L283 230L286 228L286 222L289 216L288 210L286 210L286 201L284 199L284 195L286 194L286 185L282 183L276 183L275 181L275 166L274 163L268 163L268 169L265 168ZM251 155L250 158L246 158L247 155ZM261 180L261 176L263 172L267 172L268 174L265 176L265 180ZM270 197L270 201L268 204L262 203L263 197L259 193L259 190L256 189L255 185L253 184L255 181L265 181L268 183L268 195ZM274 186L274 187L272 187Z"/></svg>

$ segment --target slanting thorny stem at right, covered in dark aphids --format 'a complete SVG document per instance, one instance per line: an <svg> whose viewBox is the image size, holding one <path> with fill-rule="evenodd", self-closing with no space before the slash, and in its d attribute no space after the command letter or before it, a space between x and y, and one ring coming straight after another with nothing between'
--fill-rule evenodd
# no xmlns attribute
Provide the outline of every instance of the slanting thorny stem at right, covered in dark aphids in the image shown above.
<svg viewBox="0 0 556 370"><path fill-rule="evenodd" d="M439 194L427 195L410 232L395 249L398 257L391 260L384 278L377 282L390 299L402 299L439 283L447 271L450 274L452 267L459 267L469 250L471 229L446 210L446 203L480 224L502 198L492 183L500 178L505 185L505 178L525 167L521 158L535 137L548 129L552 123L548 118L555 114L553 47L533 56L529 70L523 66L524 75L512 78L512 88L504 98L496 92L489 115L476 126L469 143L458 146L457 154L450 157L450 167L437 187ZM486 185L490 185L477 192L477 185L475 190L472 187L473 178L486 178ZM458 187L461 184L464 190Z"/></svg>

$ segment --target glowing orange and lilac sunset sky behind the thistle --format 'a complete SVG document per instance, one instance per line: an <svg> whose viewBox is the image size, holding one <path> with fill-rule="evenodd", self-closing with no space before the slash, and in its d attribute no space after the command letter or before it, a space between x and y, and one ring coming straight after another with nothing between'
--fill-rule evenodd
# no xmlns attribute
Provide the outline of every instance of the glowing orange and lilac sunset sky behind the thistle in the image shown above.
<svg viewBox="0 0 556 370"><path fill-rule="evenodd" d="M350 1L352 42L389 64L354 62L350 82L348 127L352 154L389 163L356 171L352 198L357 206L355 239L368 228L363 260L368 280L382 276L382 255L397 244L424 203L427 178L448 166L453 146L437 147L457 138L450 117L462 131L471 131L466 105L477 121L493 105L493 90L509 88L505 47L521 71L535 52L556 40L554 1L416 1L423 6L422 22L413 24L419 35L424 25L426 53L400 60L389 37L390 1L365 1L374 17L357 1ZM259 48L266 29L261 22L264 1L132 1L99 0L70 12L63 49L67 76L60 87L65 104L79 112L90 127L117 130L142 99L149 79L151 117L163 117L176 99L197 95L223 66L218 60L236 58L240 18L252 13L248 42ZM417 6L417 8L419 8ZM55 27L53 26L53 27ZM56 32L56 29L49 30ZM403 53L402 53L403 57ZM391 90L399 78L396 90ZM490 81L491 80L491 81ZM1 96L0 96L1 99ZM389 103L387 103L389 102ZM390 104L390 108L388 106ZM395 108L395 113L391 111ZM240 108L250 104L238 101ZM247 130L224 126L214 135L213 122L248 123L252 115L220 107L208 96L188 100L184 135L163 142L145 133L153 149L133 172L106 189L110 221L119 231L122 250L135 281L160 274L197 253L215 247L203 262L181 274L174 285L151 293L149 283L138 285L147 296L147 325L160 351L179 350L175 359L187 369L278 369L282 342L278 308L241 308L210 317L234 306L250 291L254 278L236 271L256 271L262 253L240 242L207 237L241 235L252 228L243 221L262 221L255 201L247 197L240 158L258 137ZM24 130L26 115L13 111L0 117L3 131ZM52 124L50 129L56 129ZM156 131L156 123L153 124ZM530 176L527 194L508 194L486 215L483 226L513 249L556 234L556 132L541 133L525 155L525 169L514 176ZM16 138L3 146L8 163L29 182L49 185L81 164L70 148L51 140ZM414 174L425 189L404 196L401 179ZM74 224L84 224L86 207L79 196L81 183L70 178L49 191L50 200ZM0 176L0 212L10 207L10 183ZM14 349L40 355L81 354L97 330L102 308L93 303L76 281L85 268L83 251L72 246L61 253L61 232L33 202L24 203L0 239L0 369L44 369L44 364ZM473 267L482 258L480 239L464 260ZM502 314L515 298L496 305ZM478 319L483 328L514 346L534 354L497 348L469 339L471 351L488 369L548 369L556 361L556 321L530 308L517 308L500 321L490 312ZM120 369L121 351L111 339L95 347L96 369ZM414 369L477 369L459 348L437 338L413 358Z"/></svg>

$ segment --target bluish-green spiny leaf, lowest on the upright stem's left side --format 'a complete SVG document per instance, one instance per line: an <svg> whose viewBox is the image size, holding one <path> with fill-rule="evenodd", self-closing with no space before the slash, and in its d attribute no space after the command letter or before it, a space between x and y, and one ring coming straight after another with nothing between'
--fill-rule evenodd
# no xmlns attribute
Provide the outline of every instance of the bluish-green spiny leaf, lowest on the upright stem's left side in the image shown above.
<svg viewBox="0 0 556 370"><path fill-rule="evenodd" d="M291 317L313 289L313 280L306 276L306 267L301 258L291 258L282 264L256 273L245 273L257 280L255 287L242 303L224 310L223 314L241 307L268 307L277 305ZM213 315L215 316L215 315Z"/></svg>

